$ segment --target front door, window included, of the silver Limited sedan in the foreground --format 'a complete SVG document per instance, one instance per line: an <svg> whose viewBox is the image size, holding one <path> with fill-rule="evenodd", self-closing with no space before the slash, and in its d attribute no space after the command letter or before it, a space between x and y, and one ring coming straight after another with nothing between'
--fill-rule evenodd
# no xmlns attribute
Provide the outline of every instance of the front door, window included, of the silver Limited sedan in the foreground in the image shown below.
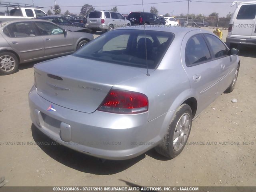
<svg viewBox="0 0 256 192"><path fill-rule="evenodd" d="M236 69L236 56L228 55L228 48L224 43L212 34L204 34L213 53L214 59L220 68L219 86L217 96L222 94L230 86Z"/></svg>

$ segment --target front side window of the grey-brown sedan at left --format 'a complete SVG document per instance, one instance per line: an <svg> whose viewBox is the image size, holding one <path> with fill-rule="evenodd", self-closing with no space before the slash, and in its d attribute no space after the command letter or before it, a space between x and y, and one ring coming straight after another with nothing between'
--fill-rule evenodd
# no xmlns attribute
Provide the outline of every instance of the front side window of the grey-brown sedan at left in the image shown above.
<svg viewBox="0 0 256 192"><path fill-rule="evenodd" d="M63 30L57 25L49 22L36 22L36 26L39 29L41 35L59 35L63 34Z"/></svg>

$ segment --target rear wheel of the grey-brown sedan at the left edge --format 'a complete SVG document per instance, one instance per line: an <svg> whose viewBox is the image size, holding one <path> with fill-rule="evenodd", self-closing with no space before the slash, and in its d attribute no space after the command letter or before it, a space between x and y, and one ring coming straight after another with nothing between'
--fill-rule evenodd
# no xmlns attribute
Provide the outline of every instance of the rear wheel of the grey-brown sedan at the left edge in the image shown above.
<svg viewBox="0 0 256 192"><path fill-rule="evenodd" d="M5 60L5 58L6 58L6 60ZM14 65L14 67L11 65ZM4 67L2 67L2 66L4 66ZM8 68L8 67L10 67L10 68ZM12 52L0 53L0 75L13 74L18 71L18 67L19 67L19 60L15 54L13 54ZM6 71L4 71L4 70L6 70Z"/></svg>

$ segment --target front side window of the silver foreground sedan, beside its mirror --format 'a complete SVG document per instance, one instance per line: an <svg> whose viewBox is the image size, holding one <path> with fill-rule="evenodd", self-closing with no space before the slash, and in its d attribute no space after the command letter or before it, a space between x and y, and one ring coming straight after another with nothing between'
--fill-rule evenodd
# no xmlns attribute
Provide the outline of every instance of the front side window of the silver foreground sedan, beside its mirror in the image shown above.
<svg viewBox="0 0 256 192"><path fill-rule="evenodd" d="M221 40L210 34L205 34L205 36L212 47L213 54L216 58L228 55L228 50Z"/></svg>

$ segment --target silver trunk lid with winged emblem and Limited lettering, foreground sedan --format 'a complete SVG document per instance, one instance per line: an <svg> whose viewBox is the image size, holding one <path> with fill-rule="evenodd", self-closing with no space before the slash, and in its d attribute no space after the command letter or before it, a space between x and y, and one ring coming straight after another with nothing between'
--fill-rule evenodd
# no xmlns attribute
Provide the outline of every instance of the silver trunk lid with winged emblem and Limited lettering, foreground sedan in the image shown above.
<svg viewBox="0 0 256 192"><path fill-rule="evenodd" d="M146 72L76 56L48 60L34 70L37 94L52 104L86 113L100 106L112 86Z"/></svg>

